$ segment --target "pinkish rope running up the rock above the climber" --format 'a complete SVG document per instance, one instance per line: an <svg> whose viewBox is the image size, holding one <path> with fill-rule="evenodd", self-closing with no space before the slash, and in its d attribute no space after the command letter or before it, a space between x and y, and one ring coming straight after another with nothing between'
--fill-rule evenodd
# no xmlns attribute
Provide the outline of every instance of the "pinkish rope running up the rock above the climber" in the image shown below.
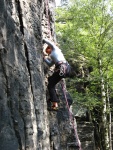
<svg viewBox="0 0 113 150"><path fill-rule="evenodd" d="M47 17L47 30L49 38L51 39L51 27L50 27L50 17L49 17L49 1L46 0L46 17Z"/></svg>

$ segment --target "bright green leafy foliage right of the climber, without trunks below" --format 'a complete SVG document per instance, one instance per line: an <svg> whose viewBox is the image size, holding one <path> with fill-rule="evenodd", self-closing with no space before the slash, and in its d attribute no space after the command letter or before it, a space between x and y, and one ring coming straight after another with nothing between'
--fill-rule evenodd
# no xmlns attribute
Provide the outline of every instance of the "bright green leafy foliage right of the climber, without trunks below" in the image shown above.
<svg viewBox="0 0 113 150"><path fill-rule="evenodd" d="M113 89L113 2L71 0L70 6L56 10L56 31L67 60L76 63L81 55L87 59L84 65L93 66L86 93L76 92L74 79L69 87L72 96L90 109L101 105L99 58L102 76L104 80L107 76L110 91Z"/></svg>

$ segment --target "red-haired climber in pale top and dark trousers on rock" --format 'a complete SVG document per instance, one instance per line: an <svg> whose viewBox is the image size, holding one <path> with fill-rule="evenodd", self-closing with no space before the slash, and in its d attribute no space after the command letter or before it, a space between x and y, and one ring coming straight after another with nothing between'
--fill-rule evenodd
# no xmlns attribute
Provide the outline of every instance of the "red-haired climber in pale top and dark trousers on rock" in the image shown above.
<svg viewBox="0 0 113 150"><path fill-rule="evenodd" d="M62 78L70 76L71 67L62 51L53 42L48 39L43 39L43 43L48 45L45 49L47 56L44 54L44 61L49 67L55 65L54 73L48 77L48 91L52 103L51 110L58 110L59 100L56 95L55 86Z"/></svg>

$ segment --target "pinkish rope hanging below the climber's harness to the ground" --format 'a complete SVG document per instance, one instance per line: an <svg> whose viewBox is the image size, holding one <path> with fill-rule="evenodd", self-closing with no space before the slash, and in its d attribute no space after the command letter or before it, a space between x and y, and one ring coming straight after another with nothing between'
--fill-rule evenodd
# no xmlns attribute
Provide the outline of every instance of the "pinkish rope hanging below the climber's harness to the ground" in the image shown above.
<svg viewBox="0 0 113 150"><path fill-rule="evenodd" d="M65 88L63 80L61 80L61 86L62 86L63 93L64 93L64 96L65 96L66 105L67 105L67 108L68 108L68 111L69 111L70 120L72 122L72 126L73 126L73 129L74 129L75 137L77 139L77 143L78 143L78 146L79 146L79 150L82 150L81 149L81 143L80 143L80 140L79 140L79 137L78 137L78 134L77 134L77 129L76 129L75 125L74 125L74 119L72 117L72 113L71 113L69 105L68 105L68 100L67 100L67 96L66 96L66 88Z"/></svg>

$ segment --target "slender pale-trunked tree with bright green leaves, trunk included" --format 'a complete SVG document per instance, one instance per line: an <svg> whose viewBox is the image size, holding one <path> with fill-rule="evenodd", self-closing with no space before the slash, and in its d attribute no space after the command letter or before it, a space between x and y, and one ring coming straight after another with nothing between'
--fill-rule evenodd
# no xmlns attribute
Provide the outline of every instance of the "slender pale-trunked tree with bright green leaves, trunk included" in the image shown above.
<svg viewBox="0 0 113 150"><path fill-rule="evenodd" d="M113 2L111 0L71 2L69 7L57 10L57 36L68 58L71 57L74 61L75 56L81 54L93 66L91 73L93 86L90 86L86 93L89 94L89 99L94 100L96 97L101 101L100 108L98 107L98 111L101 110L98 122L101 139L99 146L102 150L110 150L112 147L109 99L112 95L109 89L113 89ZM95 107L93 102L92 105Z"/></svg>

